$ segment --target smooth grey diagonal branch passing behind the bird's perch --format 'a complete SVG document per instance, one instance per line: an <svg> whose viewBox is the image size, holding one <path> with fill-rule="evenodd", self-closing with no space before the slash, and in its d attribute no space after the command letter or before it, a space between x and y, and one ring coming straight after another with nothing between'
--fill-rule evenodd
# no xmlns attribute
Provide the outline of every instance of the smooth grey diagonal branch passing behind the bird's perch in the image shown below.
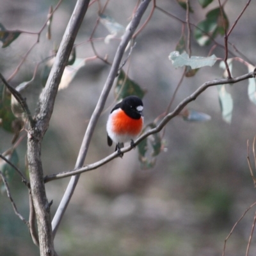
<svg viewBox="0 0 256 256"><path fill-rule="evenodd" d="M112 84L114 82L114 79L116 77L116 74L118 72L118 68L120 66L120 62L122 60L122 56L124 55L125 48L129 41L132 38L132 35L134 34L136 28L138 27L141 17L145 10L147 9L148 4L151 0L143 0L141 1L140 6L136 10L136 13L134 17L132 18L129 26L126 28L126 31L124 35L122 36L122 40L118 46L118 49L115 54L115 58L113 60L113 64L111 66L108 78L106 80L106 83L104 84L104 88L100 94L99 100L97 102L97 106L95 107L92 118L90 119L90 122L88 124L88 127L86 129L86 132L84 134L83 142L79 151L79 155L77 157L77 162L75 168L79 168L83 166L84 159L86 157L88 147L90 144L90 140L92 138L93 131L95 129L95 126L97 124L97 121L99 119L100 113L102 112L102 109L104 108L104 104L106 102L106 99L108 97L109 91L111 90ZM72 197L74 193L74 189L76 188L77 181L79 180L79 175L73 176L70 179L70 182L68 184L68 187L65 191L65 194L63 195L63 198L60 202L60 205L56 211L56 214L52 220L52 232L55 235L56 231L58 230L58 226L60 225L61 218L63 217L63 214L65 210L67 209L67 205L70 201L70 198Z"/></svg>

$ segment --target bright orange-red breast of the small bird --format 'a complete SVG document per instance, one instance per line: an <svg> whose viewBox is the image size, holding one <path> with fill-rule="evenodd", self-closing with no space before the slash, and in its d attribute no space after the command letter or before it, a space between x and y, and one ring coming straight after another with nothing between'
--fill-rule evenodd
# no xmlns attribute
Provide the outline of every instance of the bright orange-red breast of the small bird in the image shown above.
<svg viewBox="0 0 256 256"><path fill-rule="evenodd" d="M116 134L131 134L137 136L143 127L143 118L133 119L127 116L122 109L116 111L113 116L113 129Z"/></svg>

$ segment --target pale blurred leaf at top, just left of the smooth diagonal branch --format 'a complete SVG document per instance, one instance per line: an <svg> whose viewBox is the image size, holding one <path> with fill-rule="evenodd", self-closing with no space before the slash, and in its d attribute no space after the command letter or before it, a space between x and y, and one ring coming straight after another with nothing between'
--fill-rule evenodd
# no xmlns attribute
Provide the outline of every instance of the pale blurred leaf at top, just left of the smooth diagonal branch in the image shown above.
<svg viewBox="0 0 256 256"><path fill-rule="evenodd" d="M106 29L108 29L110 35L106 36L105 38L105 43L108 44L109 40L111 38L114 38L117 35L123 35L125 32L124 26L116 22L115 19L112 17L104 14L104 13L99 13L100 17L100 23L104 25Z"/></svg>

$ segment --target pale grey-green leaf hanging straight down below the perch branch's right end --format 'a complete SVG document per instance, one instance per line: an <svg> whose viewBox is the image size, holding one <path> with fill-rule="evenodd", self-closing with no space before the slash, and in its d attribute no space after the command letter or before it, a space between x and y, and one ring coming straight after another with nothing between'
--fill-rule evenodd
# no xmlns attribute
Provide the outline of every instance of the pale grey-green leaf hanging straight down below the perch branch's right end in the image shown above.
<svg viewBox="0 0 256 256"><path fill-rule="evenodd" d="M225 122L229 123L232 119L233 111L233 99L230 93L227 92L225 84L220 84L217 86L219 93L220 108L222 113L222 118Z"/></svg>

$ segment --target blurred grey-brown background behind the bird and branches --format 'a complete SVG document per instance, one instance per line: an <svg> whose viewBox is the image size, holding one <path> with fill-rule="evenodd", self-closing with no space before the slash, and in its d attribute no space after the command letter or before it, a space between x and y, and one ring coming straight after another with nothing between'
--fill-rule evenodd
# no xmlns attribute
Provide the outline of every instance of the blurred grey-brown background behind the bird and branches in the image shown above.
<svg viewBox="0 0 256 256"><path fill-rule="evenodd" d="M58 2L0 0L0 3L0 23L6 29L38 33L47 19L49 6L56 6ZM101 1L101 7L104 3ZM110 0L104 13L125 27L131 20L136 3L136 0ZM225 12L230 26L245 4L246 1L238 0L226 2ZM51 40L47 40L47 29L44 29L40 42L10 81L13 86L29 81L36 63L50 56L60 44L74 5L75 1L61 3L53 15ZM186 10L175 0L157 1L157 6L186 20ZM197 24L204 20L205 14L217 6L218 1L213 1L202 9L198 1L191 1L194 10L191 22ZM151 8L152 4L143 21ZM86 13L76 39L77 58L95 56L88 40L97 22L98 10L96 2ZM252 1L229 38L229 42L252 63L256 60L255 12L256 4ZM125 72L129 66L129 77L147 90L143 97L145 124L164 113L182 76L183 69L173 68L168 60L179 41L181 30L182 22L155 9L147 26L136 38L131 59L124 66ZM99 24L93 35L97 40L93 44L97 54L101 58L108 56L111 62L120 37L105 44L104 38L108 34L108 30ZM4 77L11 76L36 40L37 35L22 33L10 46L1 48L0 72ZM216 42L223 45L223 38L218 36ZM200 47L192 38L191 53L207 56L212 45ZM230 50L239 56L231 45ZM213 53L218 58L225 56L221 47L216 47ZM218 65L201 68L194 77L185 77L171 109L206 81L220 78L223 70ZM36 108L38 95L42 91L43 69L40 65L35 81L23 92L30 109ZM109 65L102 60L87 61L70 86L58 93L42 145L45 175L74 168L88 120L109 69ZM244 65L234 62L233 76L247 72ZM218 90L216 87L209 88L188 107L210 115L211 120L195 123L186 122L179 116L173 118L166 125L164 150L157 156L153 168L141 170L136 148L125 154L123 159L114 159L97 170L81 175L54 241L56 252L76 256L221 255L230 230L255 202L255 189L246 160L246 141L249 140L252 148L256 134L256 106L248 99L248 81L227 86L227 89L234 100L230 124L221 117ZM114 147L108 147L106 138L106 120L114 104L115 93L112 90L93 133L85 164L99 161L114 150ZM12 136L12 133L0 129L0 152L11 147ZM19 168L24 171L26 139L17 147L17 154ZM250 157L253 163L252 152ZM68 180L46 184L48 200L53 200L52 217ZM28 192L16 174L10 180L10 190L17 208L28 219ZM253 208L248 211L228 239L226 255L245 255L254 211ZM255 237L252 238L250 253L256 253ZM15 216L4 191L0 195L0 255L39 255L28 228Z"/></svg>

